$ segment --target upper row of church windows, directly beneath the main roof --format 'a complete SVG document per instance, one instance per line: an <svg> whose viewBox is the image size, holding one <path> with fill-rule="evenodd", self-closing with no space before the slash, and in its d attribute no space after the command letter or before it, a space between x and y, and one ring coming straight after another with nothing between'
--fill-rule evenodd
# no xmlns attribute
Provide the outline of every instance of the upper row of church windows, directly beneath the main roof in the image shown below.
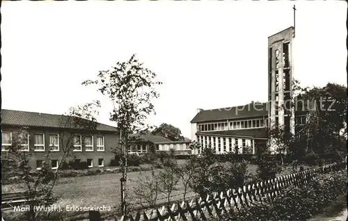
<svg viewBox="0 0 348 221"><path fill-rule="evenodd" d="M267 120L239 120L230 122L230 130L235 129L249 129L260 128L268 126ZM228 130L228 122L223 123L210 123L210 124L198 124L198 131L223 131Z"/></svg>

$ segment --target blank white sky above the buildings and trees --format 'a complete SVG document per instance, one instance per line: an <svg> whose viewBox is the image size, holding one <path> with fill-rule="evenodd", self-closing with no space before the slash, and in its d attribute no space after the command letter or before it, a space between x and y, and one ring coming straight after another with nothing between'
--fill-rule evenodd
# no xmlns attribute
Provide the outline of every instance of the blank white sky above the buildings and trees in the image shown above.
<svg viewBox="0 0 348 221"><path fill-rule="evenodd" d="M267 38L294 24L294 78L347 85L345 1L3 1L2 108L63 114L100 99L81 85L137 58L164 84L148 123L190 137L197 108L267 101Z"/></svg>

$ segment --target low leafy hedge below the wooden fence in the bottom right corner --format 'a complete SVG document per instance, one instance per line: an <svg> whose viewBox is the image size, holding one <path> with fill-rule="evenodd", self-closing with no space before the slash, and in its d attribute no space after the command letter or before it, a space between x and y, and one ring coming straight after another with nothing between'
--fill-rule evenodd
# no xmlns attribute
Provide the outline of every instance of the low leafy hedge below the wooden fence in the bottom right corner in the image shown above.
<svg viewBox="0 0 348 221"><path fill-rule="evenodd" d="M306 186L289 186L272 202L260 202L223 220L307 220L347 191L345 171L320 174Z"/></svg>

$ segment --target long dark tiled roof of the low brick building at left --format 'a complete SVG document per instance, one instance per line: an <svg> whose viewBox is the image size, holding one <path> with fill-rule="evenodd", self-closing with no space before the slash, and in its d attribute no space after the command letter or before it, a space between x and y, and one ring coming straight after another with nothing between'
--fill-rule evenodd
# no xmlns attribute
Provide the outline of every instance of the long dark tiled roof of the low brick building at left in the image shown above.
<svg viewBox="0 0 348 221"><path fill-rule="evenodd" d="M81 119L81 118L79 118ZM28 111L13 111L1 109L1 124L11 126L38 126L48 128L77 129L68 115L53 115ZM116 127L106 124L96 124L97 131L117 131Z"/></svg>

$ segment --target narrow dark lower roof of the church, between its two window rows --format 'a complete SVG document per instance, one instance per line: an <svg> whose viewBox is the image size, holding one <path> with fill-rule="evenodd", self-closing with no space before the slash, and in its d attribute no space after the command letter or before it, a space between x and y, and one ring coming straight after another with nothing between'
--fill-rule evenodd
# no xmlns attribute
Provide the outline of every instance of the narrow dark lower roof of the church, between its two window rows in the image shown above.
<svg viewBox="0 0 348 221"><path fill-rule="evenodd" d="M238 136L245 138L267 138L267 129L266 128L257 128L257 129L242 129L242 130L228 130L228 131L204 131L197 132L197 135L211 135L211 136Z"/></svg>

